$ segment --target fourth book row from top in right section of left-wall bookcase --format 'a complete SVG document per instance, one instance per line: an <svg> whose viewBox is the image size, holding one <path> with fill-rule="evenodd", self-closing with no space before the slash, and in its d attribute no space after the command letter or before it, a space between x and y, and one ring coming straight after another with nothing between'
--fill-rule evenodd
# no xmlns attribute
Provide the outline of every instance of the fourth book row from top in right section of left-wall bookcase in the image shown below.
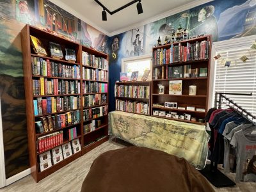
<svg viewBox="0 0 256 192"><path fill-rule="evenodd" d="M91 107L101 104L106 104L107 96L105 94L94 94L94 95L84 95L83 106Z"/></svg>

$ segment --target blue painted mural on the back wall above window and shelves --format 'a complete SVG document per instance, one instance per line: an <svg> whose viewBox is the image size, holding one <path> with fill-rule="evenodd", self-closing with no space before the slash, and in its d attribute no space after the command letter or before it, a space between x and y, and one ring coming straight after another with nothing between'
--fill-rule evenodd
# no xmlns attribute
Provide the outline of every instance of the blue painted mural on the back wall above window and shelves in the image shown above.
<svg viewBox="0 0 256 192"><path fill-rule="evenodd" d="M139 28L131 29L120 34L124 38L119 41L120 49L117 52L119 59L110 63L110 65L118 66L120 71L112 73L111 68L115 67L111 67L109 72L113 76L110 76L110 81L111 78L119 80L122 58L151 54L152 47L157 45L159 36L163 44L165 38L170 40L172 33L178 28L188 29L189 36L211 34L212 41L217 42L255 35L255 26L256 0L215 0ZM138 46L138 42L140 42L140 46ZM140 49L137 49L137 47L140 47ZM115 81L110 84L110 90L113 90L113 86L115 86ZM115 99L111 99L110 103L114 103ZM115 110L115 106L109 106L109 110Z"/></svg>

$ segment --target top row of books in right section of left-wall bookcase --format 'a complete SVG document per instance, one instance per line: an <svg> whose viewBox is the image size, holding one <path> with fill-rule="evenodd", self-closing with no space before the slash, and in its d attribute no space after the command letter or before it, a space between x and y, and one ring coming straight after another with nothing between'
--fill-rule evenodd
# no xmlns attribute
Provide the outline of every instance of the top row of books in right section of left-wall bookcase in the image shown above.
<svg viewBox="0 0 256 192"><path fill-rule="evenodd" d="M108 69L108 60L84 51L82 51L82 64L91 67Z"/></svg>

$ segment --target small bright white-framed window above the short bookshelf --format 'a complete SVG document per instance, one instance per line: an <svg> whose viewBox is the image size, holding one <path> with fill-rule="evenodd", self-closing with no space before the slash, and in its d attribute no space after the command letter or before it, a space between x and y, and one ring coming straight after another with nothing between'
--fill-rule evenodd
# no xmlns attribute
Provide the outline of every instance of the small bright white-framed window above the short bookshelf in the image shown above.
<svg viewBox="0 0 256 192"><path fill-rule="evenodd" d="M122 59L122 72L127 72L130 79L132 72L138 70L138 81L140 81L144 71L151 70L151 58L151 55L146 55ZM151 72L147 80L151 80Z"/></svg>

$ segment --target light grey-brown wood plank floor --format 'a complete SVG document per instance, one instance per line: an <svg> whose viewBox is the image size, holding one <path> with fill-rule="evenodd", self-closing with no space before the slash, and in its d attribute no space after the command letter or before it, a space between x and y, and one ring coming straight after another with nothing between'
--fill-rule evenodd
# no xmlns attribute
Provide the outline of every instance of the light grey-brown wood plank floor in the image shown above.
<svg viewBox="0 0 256 192"><path fill-rule="evenodd" d="M107 141L100 145L99 147L93 149L92 151L85 154L83 157L76 159L67 166L61 168L57 172L49 175L45 179L41 180L36 184L35 180L28 175L17 182L0 189L0 192L7 191L80 191L84 178L90 170L90 166L93 160L98 157L103 152L108 150L113 150L117 148L125 147L120 143L114 141ZM228 177L234 180L235 174L230 173ZM213 187L214 188L214 187ZM214 188L215 191L256 191L256 183L252 182L239 182L233 188ZM96 191L95 191L96 192Z"/></svg>

